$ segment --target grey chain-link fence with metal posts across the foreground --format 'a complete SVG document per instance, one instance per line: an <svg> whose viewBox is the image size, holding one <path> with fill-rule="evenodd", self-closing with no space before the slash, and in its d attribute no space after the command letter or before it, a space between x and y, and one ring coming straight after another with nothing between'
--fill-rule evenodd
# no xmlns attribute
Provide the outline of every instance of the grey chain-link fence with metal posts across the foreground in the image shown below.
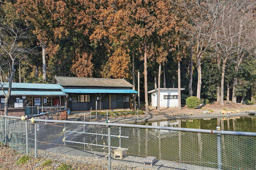
<svg viewBox="0 0 256 170"><path fill-rule="evenodd" d="M0 139L23 154L108 169L256 169L256 133L0 117Z"/></svg>

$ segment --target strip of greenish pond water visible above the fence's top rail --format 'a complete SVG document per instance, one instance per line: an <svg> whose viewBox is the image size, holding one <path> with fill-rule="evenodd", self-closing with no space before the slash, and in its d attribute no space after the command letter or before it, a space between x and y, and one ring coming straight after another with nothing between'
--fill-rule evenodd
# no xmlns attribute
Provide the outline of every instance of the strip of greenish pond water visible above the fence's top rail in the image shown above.
<svg viewBox="0 0 256 170"><path fill-rule="evenodd" d="M256 116L236 116L194 120L168 120L150 122L147 123L147 125L210 130L216 130L216 127L220 126L221 130L225 131L256 132Z"/></svg>

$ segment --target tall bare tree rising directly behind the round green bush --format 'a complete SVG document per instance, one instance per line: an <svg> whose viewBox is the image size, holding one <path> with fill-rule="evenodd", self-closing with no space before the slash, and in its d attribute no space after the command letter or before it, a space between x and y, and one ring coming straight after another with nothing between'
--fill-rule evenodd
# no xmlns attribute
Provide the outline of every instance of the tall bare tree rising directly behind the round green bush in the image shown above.
<svg viewBox="0 0 256 170"><path fill-rule="evenodd" d="M196 96L200 98L202 84L201 60L206 50L209 49L214 31L218 25L217 19L221 7L219 0L183 0L183 6L186 8L190 23L193 26L190 33L195 44L194 54L198 73Z"/></svg>

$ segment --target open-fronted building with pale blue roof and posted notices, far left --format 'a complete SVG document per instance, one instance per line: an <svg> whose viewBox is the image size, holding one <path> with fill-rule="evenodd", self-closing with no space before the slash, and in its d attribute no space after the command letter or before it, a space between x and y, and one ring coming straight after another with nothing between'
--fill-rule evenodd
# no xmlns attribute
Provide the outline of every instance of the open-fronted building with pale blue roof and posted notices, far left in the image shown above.
<svg viewBox="0 0 256 170"><path fill-rule="evenodd" d="M0 113L4 112L4 92L7 94L8 87L9 83L0 82ZM12 83L8 115L23 116L41 113L46 108L65 108L67 94L62 89L59 84Z"/></svg>

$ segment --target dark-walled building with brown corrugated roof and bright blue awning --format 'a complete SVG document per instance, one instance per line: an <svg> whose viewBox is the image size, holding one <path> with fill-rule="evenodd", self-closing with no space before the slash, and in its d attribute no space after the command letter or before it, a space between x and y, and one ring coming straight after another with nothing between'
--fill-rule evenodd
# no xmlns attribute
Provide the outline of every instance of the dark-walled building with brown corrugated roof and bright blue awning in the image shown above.
<svg viewBox="0 0 256 170"><path fill-rule="evenodd" d="M71 111L131 109L131 96L138 94L124 79L55 77L68 94Z"/></svg>

